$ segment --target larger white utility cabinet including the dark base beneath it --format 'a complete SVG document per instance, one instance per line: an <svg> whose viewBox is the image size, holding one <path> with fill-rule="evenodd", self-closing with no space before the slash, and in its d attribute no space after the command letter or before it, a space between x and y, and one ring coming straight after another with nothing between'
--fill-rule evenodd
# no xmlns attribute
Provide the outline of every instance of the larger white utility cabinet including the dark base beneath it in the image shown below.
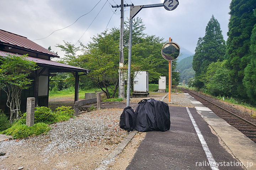
<svg viewBox="0 0 256 170"><path fill-rule="evenodd" d="M149 95L149 72L134 72L133 97L148 97Z"/></svg>

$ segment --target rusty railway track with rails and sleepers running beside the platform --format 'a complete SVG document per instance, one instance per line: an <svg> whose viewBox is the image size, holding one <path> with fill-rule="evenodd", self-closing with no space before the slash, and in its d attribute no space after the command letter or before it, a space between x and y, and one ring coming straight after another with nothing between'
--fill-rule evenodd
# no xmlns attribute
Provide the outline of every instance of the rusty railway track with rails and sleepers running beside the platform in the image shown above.
<svg viewBox="0 0 256 170"><path fill-rule="evenodd" d="M228 107L224 108L225 106L219 106L213 101L207 100L206 98L202 97L202 95L197 94L196 92L184 88L182 88L182 90L190 94L196 100L201 102L204 106L211 109L216 115L224 119L228 124L238 129L240 132L242 132L242 134L244 134L245 136L250 138L250 140L256 143L256 125L254 123L240 117L232 111L229 111Z"/></svg>

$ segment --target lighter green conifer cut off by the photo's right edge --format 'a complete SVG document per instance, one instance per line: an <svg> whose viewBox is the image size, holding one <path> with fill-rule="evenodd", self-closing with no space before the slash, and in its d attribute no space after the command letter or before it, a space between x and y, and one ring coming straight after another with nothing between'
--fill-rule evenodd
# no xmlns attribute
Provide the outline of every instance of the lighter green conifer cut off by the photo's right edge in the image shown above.
<svg viewBox="0 0 256 170"><path fill-rule="evenodd" d="M254 10L254 16L256 17L256 10ZM251 62L244 70L245 77L243 84L246 87L247 96L252 102L256 103L256 24L252 30L249 57L251 58Z"/></svg>

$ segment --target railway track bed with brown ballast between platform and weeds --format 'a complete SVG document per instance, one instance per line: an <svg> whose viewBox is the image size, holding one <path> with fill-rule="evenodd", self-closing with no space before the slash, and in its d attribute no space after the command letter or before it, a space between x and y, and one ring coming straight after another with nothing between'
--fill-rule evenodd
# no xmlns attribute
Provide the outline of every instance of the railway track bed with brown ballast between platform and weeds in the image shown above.
<svg viewBox="0 0 256 170"><path fill-rule="evenodd" d="M256 119L251 118L249 113L242 112L197 92L184 88L182 90L211 109L216 115L256 143Z"/></svg>

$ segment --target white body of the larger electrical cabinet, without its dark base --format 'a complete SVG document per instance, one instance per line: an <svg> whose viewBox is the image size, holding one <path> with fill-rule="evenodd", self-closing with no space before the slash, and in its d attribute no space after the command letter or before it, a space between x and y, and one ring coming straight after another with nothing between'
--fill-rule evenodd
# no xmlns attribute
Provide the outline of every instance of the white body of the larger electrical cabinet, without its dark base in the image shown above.
<svg viewBox="0 0 256 170"><path fill-rule="evenodd" d="M134 92L148 92L149 91L149 72L138 71L134 72L133 91Z"/></svg>

